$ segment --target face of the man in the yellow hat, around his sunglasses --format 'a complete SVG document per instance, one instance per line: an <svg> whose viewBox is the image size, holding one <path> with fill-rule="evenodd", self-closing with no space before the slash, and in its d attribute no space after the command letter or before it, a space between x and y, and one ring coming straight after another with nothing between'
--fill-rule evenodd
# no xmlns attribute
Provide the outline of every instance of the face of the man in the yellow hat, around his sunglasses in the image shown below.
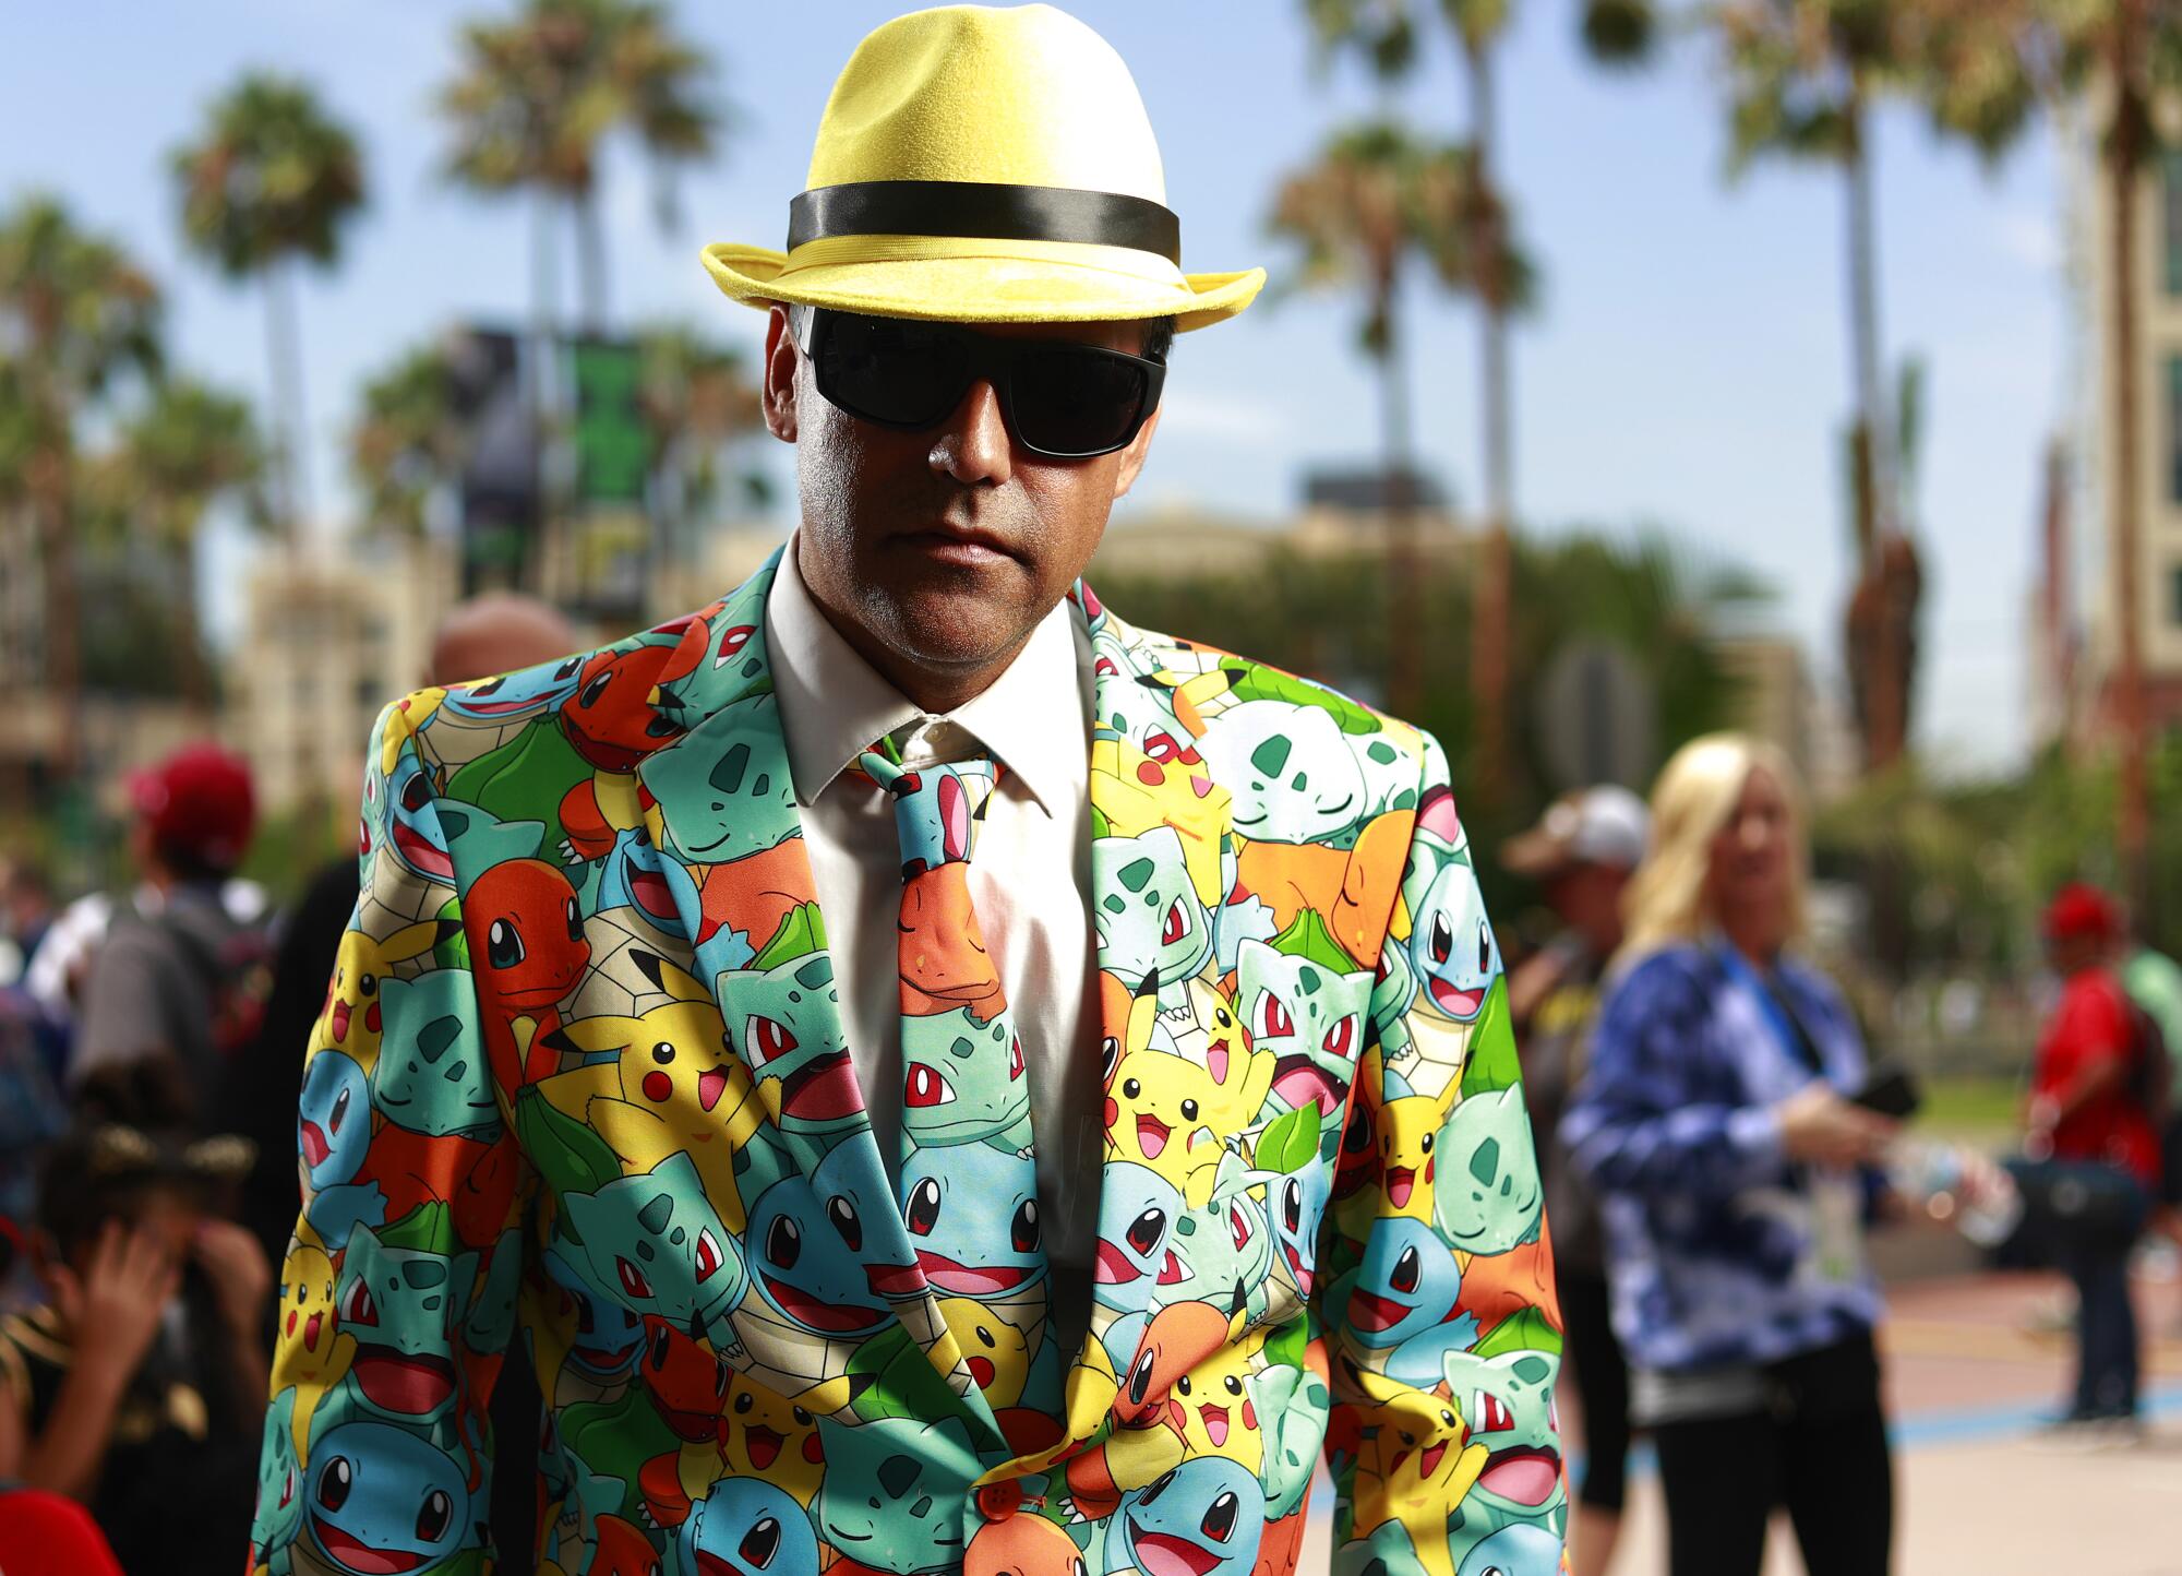
<svg viewBox="0 0 2182 1576"><path fill-rule="evenodd" d="M1135 354L1141 323L980 325L995 336L1078 341ZM799 568L818 605L930 672L1006 664L1091 563L1106 515L1143 469L1135 441L1089 461L1015 443L991 382L936 426L903 432L829 404L772 308L766 426L796 445Z"/></svg>

